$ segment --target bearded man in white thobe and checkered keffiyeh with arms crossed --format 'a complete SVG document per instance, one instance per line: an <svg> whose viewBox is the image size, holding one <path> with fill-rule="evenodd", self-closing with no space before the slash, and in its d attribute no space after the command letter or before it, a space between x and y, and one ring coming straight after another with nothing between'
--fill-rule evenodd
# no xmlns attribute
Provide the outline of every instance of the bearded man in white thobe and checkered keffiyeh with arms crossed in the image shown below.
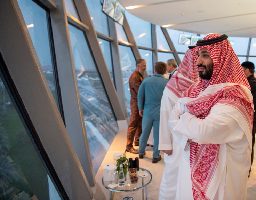
<svg viewBox="0 0 256 200"><path fill-rule="evenodd" d="M191 50L200 80L184 91L168 125L181 146L176 199L245 200L251 162L253 99L226 35Z"/></svg>

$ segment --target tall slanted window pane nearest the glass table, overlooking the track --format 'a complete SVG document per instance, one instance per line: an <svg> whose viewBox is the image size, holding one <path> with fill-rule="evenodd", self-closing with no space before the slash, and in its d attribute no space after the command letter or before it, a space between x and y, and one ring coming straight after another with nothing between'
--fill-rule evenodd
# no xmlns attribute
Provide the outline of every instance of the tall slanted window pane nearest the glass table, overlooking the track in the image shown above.
<svg viewBox="0 0 256 200"><path fill-rule="evenodd" d="M85 34L72 25L69 25L69 31L83 118L94 173L96 174L117 134L117 120L88 47Z"/></svg>

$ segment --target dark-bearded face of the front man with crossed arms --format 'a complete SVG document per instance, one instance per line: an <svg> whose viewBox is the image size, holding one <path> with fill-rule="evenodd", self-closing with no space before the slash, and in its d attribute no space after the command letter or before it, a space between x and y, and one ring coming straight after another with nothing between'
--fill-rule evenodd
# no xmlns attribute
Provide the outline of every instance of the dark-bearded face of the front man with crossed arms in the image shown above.
<svg viewBox="0 0 256 200"><path fill-rule="evenodd" d="M198 59L197 66L199 70L199 76L202 79L210 80L213 75L213 59L207 52L207 48L202 48L197 51Z"/></svg>

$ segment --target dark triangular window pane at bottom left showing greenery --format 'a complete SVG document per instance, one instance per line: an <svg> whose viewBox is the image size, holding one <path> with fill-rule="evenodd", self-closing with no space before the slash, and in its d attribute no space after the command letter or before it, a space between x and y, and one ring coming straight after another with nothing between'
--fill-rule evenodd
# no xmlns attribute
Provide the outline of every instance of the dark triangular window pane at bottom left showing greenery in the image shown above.
<svg viewBox="0 0 256 200"><path fill-rule="evenodd" d="M0 199L61 199L0 78Z"/></svg>

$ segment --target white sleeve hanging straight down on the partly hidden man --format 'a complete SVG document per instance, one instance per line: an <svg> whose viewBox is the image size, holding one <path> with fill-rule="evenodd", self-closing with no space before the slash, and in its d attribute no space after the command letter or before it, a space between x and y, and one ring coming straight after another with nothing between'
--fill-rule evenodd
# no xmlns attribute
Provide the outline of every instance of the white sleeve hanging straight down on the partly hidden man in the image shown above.
<svg viewBox="0 0 256 200"><path fill-rule="evenodd" d="M171 131L168 126L168 119L173 106L174 101L170 99L165 93L163 93L160 108L160 123L159 123L159 150L172 150L171 144Z"/></svg>

